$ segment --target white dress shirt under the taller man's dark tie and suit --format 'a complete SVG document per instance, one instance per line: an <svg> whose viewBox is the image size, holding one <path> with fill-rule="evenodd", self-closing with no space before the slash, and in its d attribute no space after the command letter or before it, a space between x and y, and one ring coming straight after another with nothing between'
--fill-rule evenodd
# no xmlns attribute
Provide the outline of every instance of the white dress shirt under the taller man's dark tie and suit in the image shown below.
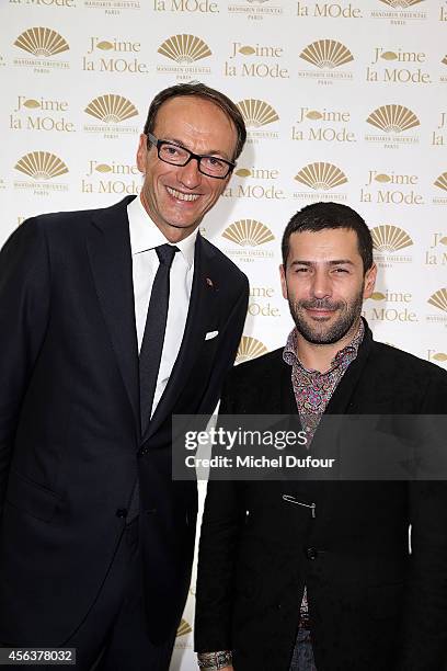
<svg viewBox="0 0 447 671"><path fill-rule="evenodd" d="M134 278L135 321L137 326L138 352L145 334L150 293L159 260L156 247L171 244L149 217L139 197L127 206L130 231L131 268ZM180 251L174 255L170 272L170 294L167 330L151 416L168 384L172 367L179 354L190 307L191 287L194 275L194 247L197 229L187 238L175 243Z"/></svg>

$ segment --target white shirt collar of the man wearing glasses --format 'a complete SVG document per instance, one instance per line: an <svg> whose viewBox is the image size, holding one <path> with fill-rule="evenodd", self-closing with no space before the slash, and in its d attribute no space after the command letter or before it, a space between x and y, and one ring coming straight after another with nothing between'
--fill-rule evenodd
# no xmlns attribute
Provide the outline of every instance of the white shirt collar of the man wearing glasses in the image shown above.
<svg viewBox="0 0 447 671"><path fill-rule="evenodd" d="M154 249L160 244L172 244L172 242L169 242L163 236L158 226L154 225L142 206L140 197L137 196L127 205L127 216L129 219L130 250L133 257L148 249ZM194 247L197 239L197 232L198 228L190 234L184 240L175 242L175 247L180 249L188 268L192 266L194 261Z"/></svg>

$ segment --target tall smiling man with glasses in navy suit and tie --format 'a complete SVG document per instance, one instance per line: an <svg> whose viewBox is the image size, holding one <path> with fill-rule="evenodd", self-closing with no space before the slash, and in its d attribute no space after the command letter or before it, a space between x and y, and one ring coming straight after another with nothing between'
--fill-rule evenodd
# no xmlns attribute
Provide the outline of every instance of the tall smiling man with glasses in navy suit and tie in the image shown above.
<svg viewBox="0 0 447 671"><path fill-rule="evenodd" d="M165 671L187 594L195 484L171 416L209 414L247 277L198 225L245 128L200 83L152 101L140 198L25 221L0 257L0 641L81 671Z"/></svg>

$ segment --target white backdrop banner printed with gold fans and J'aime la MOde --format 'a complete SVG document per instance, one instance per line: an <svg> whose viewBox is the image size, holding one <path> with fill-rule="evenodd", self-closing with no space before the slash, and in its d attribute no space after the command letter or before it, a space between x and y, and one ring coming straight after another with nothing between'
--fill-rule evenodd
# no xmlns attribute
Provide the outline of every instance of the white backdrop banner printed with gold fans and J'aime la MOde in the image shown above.
<svg viewBox="0 0 447 671"><path fill-rule="evenodd" d="M204 81L248 125L202 226L250 278L238 360L285 342L282 232L334 201L373 231L376 339L447 367L447 0L1 0L0 24L1 242L138 194L150 100ZM196 668L193 613L194 581L173 670Z"/></svg>

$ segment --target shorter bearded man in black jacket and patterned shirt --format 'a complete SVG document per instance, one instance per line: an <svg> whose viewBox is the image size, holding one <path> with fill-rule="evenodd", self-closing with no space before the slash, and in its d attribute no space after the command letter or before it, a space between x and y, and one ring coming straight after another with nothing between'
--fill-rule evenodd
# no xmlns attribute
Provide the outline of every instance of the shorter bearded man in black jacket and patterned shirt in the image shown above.
<svg viewBox="0 0 447 671"><path fill-rule="evenodd" d="M375 342L360 317L376 266L357 213L297 213L280 275L295 329L230 373L221 421L295 416L317 443L323 414L446 413L446 373ZM380 460L383 444L373 448ZM195 632L215 671L444 671L447 484L211 478Z"/></svg>

